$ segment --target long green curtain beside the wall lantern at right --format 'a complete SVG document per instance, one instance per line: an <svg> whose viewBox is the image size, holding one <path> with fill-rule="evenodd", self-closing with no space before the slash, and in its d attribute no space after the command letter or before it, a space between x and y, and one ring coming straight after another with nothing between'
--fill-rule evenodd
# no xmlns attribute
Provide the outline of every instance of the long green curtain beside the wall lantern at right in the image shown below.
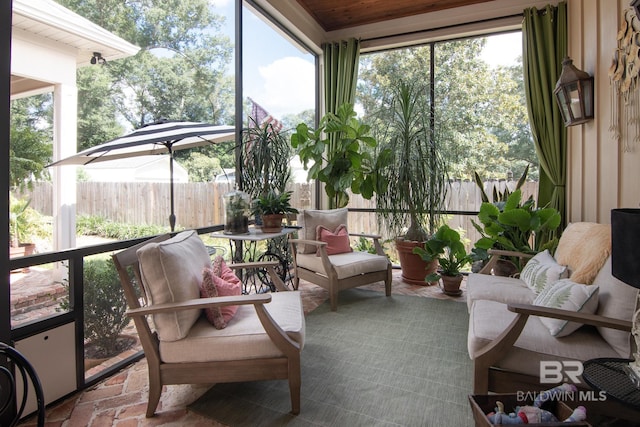
<svg viewBox="0 0 640 427"><path fill-rule="evenodd" d="M540 160L538 206L556 208L566 225L567 131L553 95L567 56L567 4L526 9L522 24L524 85Z"/></svg>

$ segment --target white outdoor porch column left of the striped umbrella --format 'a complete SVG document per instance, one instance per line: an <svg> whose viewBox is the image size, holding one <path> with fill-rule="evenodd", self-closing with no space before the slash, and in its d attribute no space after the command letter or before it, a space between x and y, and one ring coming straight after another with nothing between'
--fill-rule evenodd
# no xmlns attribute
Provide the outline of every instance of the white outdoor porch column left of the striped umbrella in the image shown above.
<svg viewBox="0 0 640 427"><path fill-rule="evenodd" d="M75 85L55 85L53 92L53 158L77 152L78 90ZM53 250L76 246L76 167L56 166L53 175Z"/></svg>

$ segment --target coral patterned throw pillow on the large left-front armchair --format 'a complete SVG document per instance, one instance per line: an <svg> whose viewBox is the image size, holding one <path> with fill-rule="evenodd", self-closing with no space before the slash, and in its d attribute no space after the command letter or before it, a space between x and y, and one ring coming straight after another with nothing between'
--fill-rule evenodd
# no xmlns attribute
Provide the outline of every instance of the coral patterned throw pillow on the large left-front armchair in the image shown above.
<svg viewBox="0 0 640 427"><path fill-rule="evenodd" d="M202 270L202 298L227 297L242 294L242 282L227 266L221 256L213 260L213 268ZM212 307L204 310L207 320L216 328L224 329L238 311L237 305Z"/></svg>

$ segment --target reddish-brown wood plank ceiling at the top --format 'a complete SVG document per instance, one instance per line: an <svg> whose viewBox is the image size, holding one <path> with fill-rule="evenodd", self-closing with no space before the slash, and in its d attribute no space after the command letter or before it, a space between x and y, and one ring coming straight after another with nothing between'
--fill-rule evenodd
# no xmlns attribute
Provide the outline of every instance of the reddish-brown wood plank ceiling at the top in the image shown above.
<svg viewBox="0 0 640 427"><path fill-rule="evenodd" d="M325 31L492 0L297 0Z"/></svg>

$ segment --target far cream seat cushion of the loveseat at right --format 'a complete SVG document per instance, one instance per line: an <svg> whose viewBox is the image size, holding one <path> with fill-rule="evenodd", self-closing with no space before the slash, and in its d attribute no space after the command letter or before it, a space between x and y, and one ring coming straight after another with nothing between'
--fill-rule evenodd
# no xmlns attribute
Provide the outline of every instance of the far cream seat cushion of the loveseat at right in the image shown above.
<svg viewBox="0 0 640 427"><path fill-rule="evenodd" d="M469 309L476 300L531 304L536 296L520 279L479 273L467 277L466 293Z"/></svg>

